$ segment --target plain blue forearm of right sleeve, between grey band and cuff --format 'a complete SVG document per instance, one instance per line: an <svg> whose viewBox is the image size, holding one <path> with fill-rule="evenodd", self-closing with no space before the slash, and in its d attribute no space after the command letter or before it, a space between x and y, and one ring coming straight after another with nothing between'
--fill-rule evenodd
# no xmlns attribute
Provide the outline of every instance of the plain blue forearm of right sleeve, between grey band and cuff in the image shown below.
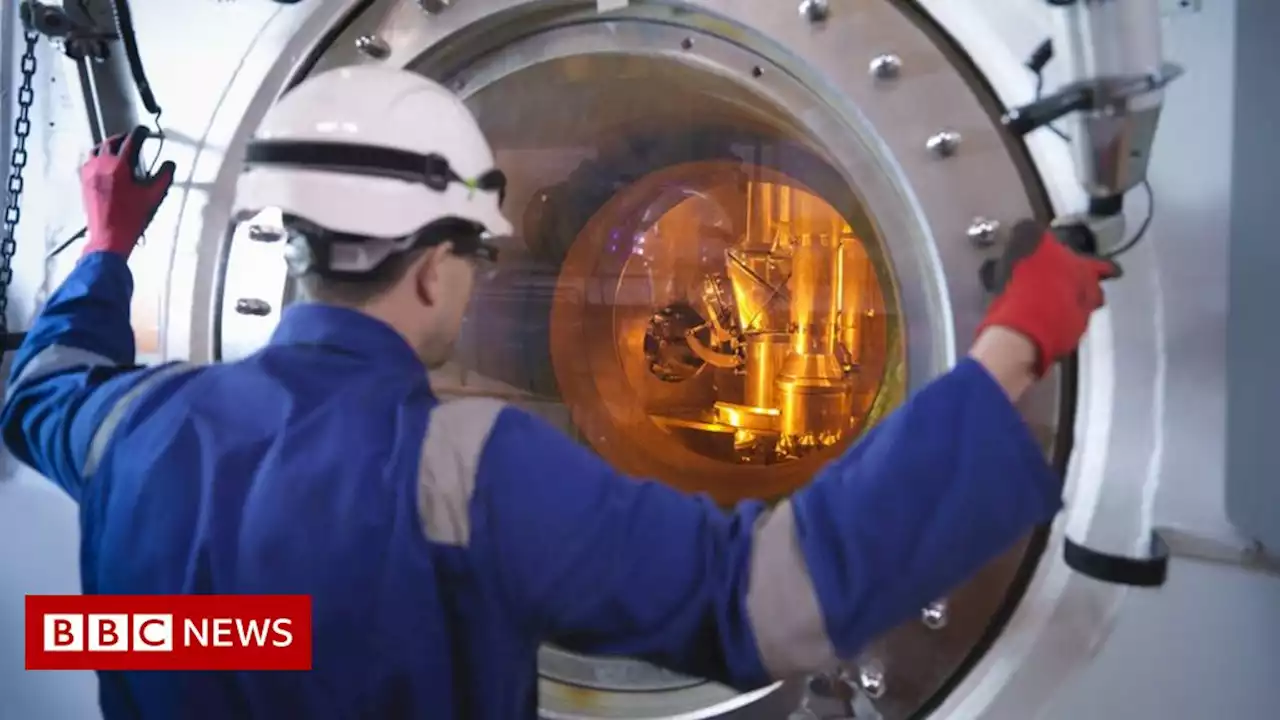
<svg viewBox="0 0 1280 720"><path fill-rule="evenodd" d="M965 359L794 498L837 655L918 615L1061 506L1030 428Z"/></svg>

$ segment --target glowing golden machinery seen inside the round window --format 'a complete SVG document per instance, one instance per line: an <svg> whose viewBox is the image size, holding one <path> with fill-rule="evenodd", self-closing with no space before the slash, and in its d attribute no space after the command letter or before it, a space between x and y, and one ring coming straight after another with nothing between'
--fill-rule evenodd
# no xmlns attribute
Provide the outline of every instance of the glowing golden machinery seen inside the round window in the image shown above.
<svg viewBox="0 0 1280 720"><path fill-rule="evenodd" d="M746 182L746 232L724 250L724 270L705 275L701 292L689 299L703 313L689 301L663 307L644 347L650 372L668 382L708 368L741 379L740 391L718 383L722 400L700 418L655 421L731 434L740 461L768 464L833 446L855 430L869 406L865 392L856 404L854 397L865 389L858 382L863 323L876 316L868 291L878 291L844 218L819 197L756 174ZM690 318L701 322L689 327Z"/></svg>

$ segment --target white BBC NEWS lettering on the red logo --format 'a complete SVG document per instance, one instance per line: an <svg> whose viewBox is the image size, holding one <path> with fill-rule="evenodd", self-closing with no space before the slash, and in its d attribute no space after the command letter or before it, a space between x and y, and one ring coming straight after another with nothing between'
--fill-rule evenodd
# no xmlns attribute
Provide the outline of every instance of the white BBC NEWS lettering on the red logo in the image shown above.
<svg viewBox="0 0 1280 720"><path fill-rule="evenodd" d="M182 647L289 647L292 620L186 618ZM164 614L45 615L46 652L172 652L174 619Z"/></svg>

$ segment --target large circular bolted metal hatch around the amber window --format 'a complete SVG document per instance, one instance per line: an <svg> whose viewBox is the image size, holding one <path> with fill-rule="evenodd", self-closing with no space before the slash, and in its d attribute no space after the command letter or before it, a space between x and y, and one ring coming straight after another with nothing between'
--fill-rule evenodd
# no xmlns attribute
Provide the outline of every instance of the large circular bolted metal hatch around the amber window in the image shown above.
<svg viewBox="0 0 1280 720"><path fill-rule="evenodd" d="M518 241L504 249L495 283L477 291L461 363L433 378L436 388L506 397L628 471L726 503L790 492L878 413L943 372L980 318L978 266L998 251L1000 227L1034 214L1039 193L1024 186L983 90L920 18L887 0L817 15L767 0L632 3L604 14L518 0L470 0L435 14L415 3L357 5L292 82L355 63L435 77L467 99L512 179L507 211ZM751 210L762 204L771 213ZM781 205L806 209L783 217ZM814 224L831 229L801 227ZM735 284L732 268L749 264L745 251L763 236L760 266L781 266L786 279ZM648 256L637 252L645 245ZM790 281L809 246L826 247L827 260L810 252L800 264L812 275L826 263L831 277L796 292ZM289 300L275 252L253 242L250 227L230 238L215 323L224 359L256 348ZM704 302L703 290L717 282L727 296L746 286L787 293L771 325L782 345L805 324L795 305L831 311L831 359L852 375L835 415L792 413L801 420L786 425L777 369L786 352L767 364L777 372L763 373L772 405L748 402L748 331L762 328L737 318L728 340L712 342L717 310L730 325L744 315L741 297ZM826 305L812 301L813 288ZM724 355L739 365L716 365ZM1025 414L1052 452L1057 393L1052 383L1038 392ZM776 410L763 421L774 427L744 427L759 418L735 419L722 406ZM832 429L837 415L847 424ZM699 424L707 427L690 427ZM820 425L827 439L787 439L783 425ZM740 443L742 430L768 436L763 450ZM797 445L805 447L791 452ZM842 678L874 696L884 717L927 707L998 624L1019 569L1034 561L1028 547L849 659ZM540 667L548 717L776 717L800 689L736 696L640 662L556 648Z"/></svg>

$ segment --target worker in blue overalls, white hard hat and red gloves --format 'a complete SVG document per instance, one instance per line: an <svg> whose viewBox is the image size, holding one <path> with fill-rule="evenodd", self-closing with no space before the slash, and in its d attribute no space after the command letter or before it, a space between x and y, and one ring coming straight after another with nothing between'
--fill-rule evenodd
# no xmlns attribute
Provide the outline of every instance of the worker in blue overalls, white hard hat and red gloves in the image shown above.
<svg viewBox="0 0 1280 720"><path fill-rule="evenodd" d="M490 398L439 401L506 181L420 76L317 74L266 114L237 206L278 209L305 302L259 352L138 366L129 254L173 165L82 170L88 245L18 351L4 441L81 507L86 593L305 593L307 673L101 673L108 720L535 717L541 643L751 689L832 669L1060 509L1014 402L1114 268L1039 231L972 350L791 498L628 478Z"/></svg>

